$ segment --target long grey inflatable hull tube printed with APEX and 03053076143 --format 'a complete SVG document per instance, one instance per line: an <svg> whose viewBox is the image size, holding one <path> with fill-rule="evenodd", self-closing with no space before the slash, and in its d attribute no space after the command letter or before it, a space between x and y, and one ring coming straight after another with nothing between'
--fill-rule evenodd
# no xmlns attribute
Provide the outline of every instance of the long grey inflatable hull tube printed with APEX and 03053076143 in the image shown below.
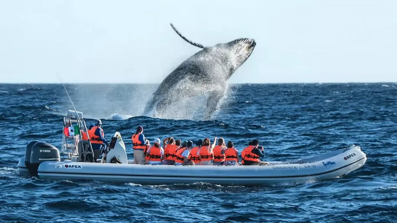
<svg viewBox="0 0 397 223"><path fill-rule="evenodd" d="M311 162L308 161L310 159ZM46 161L40 164L38 175L41 179L87 179L141 185L198 182L218 185L274 185L335 179L357 170L365 162L364 152L359 147L353 147L295 162L274 162L264 166L173 166Z"/></svg>

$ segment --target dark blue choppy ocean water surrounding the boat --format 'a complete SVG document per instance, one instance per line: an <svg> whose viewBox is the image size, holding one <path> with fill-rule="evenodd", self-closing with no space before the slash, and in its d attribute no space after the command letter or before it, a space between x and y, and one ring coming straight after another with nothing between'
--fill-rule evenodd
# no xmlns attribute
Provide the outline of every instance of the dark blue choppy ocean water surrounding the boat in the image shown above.
<svg viewBox="0 0 397 223"><path fill-rule="evenodd" d="M0 222L397 222L397 83L231 85L208 121L200 119L200 99L181 102L175 111L186 112L178 118L141 116L156 85L66 88L87 124L100 118L107 139L121 132L130 158L130 137L142 125L150 141L216 136L241 151L256 138L264 160L351 144L368 160L331 181L267 187L21 177L17 163L27 143L60 147L62 114L73 107L60 84L0 84Z"/></svg>

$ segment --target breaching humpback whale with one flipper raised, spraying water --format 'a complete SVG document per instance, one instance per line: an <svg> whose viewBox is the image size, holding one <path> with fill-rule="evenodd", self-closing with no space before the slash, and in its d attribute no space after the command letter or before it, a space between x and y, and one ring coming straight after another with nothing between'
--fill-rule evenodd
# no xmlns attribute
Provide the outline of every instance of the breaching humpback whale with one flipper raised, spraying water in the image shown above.
<svg viewBox="0 0 397 223"><path fill-rule="evenodd" d="M202 50L183 61L161 82L144 113L152 111L155 117L174 118L174 111L181 99L205 95L208 100L203 118L207 120L223 97L227 80L251 55L255 40L240 38L204 47L188 40L172 23L171 27L183 40Z"/></svg>

